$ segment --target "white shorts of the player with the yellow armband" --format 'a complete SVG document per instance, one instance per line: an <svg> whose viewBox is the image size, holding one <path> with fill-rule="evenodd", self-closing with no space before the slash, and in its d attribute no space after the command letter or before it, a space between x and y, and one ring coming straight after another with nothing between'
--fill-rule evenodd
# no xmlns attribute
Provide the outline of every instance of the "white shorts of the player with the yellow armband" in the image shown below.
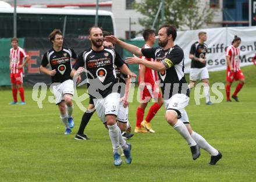
<svg viewBox="0 0 256 182"><path fill-rule="evenodd" d="M166 112L176 112L177 119L181 120L184 124L189 124L189 117L185 107L189 105L189 97L185 94L175 94L168 100L165 100Z"/></svg>

